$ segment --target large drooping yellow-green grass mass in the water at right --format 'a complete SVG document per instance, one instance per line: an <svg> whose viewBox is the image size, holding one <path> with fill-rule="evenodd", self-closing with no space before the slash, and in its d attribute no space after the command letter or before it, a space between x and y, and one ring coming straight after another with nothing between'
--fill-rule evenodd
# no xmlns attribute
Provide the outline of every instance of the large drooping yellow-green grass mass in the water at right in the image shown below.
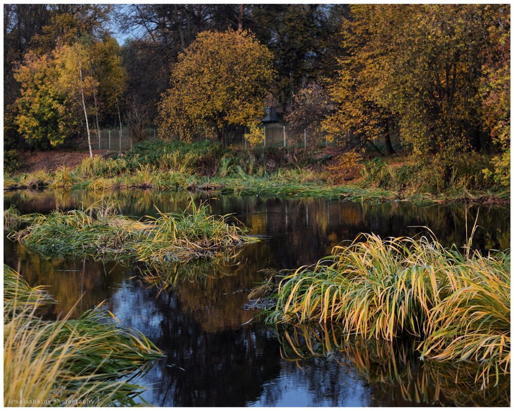
<svg viewBox="0 0 514 411"><path fill-rule="evenodd" d="M411 335L422 358L479 364L485 382L510 373L510 252L361 235L286 274L276 297L268 322L335 322L347 338Z"/></svg>

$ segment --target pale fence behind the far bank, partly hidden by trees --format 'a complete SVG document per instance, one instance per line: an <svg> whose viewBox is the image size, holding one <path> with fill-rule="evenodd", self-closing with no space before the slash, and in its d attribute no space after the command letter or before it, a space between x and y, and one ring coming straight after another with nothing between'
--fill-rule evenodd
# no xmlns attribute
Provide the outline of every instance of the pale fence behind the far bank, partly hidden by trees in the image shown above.
<svg viewBox="0 0 514 411"><path fill-rule="evenodd" d="M296 147L296 148L315 148L326 146L326 134L319 124L310 125L307 128L293 126L287 123L267 123L259 126L263 130L264 141L257 144L264 147ZM229 125L222 130L223 140L227 146L249 147L250 143L245 135L250 132L248 127ZM134 137L137 135L137 139ZM90 130L91 146L94 150L125 151L130 150L134 144L140 141L159 139L157 128L144 128L135 133L130 128L123 126L120 128ZM180 135L169 135L166 140L180 141L185 140ZM217 141L217 136L212 130L195 130L192 133L192 141L211 140ZM84 133L83 141L87 145L87 135ZM82 143L80 143L82 145Z"/></svg>

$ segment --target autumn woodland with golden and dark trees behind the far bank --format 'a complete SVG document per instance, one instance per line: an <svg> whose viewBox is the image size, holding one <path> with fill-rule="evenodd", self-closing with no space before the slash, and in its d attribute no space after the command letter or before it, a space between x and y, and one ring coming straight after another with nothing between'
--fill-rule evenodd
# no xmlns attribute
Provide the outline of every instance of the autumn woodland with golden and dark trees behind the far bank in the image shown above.
<svg viewBox="0 0 514 411"><path fill-rule="evenodd" d="M348 150L399 141L446 180L489 155L508 185L509 96L508 5L4 5L7 164L86 128L166 138L276 106Z"/></svg>

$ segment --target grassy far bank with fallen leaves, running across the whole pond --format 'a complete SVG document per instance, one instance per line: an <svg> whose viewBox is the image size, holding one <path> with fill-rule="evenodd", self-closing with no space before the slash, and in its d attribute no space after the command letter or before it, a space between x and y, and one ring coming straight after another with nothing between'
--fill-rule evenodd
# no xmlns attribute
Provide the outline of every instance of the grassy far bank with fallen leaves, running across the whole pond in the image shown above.
<svg viewBox="0 0 514 411"><path fill-rule="evenodd" d="M151 142L115 158L85 158L72 168L4 177L4 190L219 191L281 198L327 197L354 201L478 202L510 204L508 187L484 172L490 159L471 155L446 182L436 165L407 156L363 158L334 147L229 149L214 143ZM472 166L469 161L472 160Z"/></svg>

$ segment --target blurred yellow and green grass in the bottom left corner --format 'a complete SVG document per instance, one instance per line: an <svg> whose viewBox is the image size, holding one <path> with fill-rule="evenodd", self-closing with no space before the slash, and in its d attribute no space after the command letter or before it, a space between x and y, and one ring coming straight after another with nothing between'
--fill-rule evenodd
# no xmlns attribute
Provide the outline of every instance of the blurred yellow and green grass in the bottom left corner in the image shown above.
<svg viewBox="0 0 514 411"><path fill-rule="evenodd" d="M160 356L152 342L119 327L100 306L77 320L44 321L39 309L48 300L41 290L7 266L4 272L4 288L10 290L4 294L4 406L139 402L143 388L127 378Z"/></svg>

